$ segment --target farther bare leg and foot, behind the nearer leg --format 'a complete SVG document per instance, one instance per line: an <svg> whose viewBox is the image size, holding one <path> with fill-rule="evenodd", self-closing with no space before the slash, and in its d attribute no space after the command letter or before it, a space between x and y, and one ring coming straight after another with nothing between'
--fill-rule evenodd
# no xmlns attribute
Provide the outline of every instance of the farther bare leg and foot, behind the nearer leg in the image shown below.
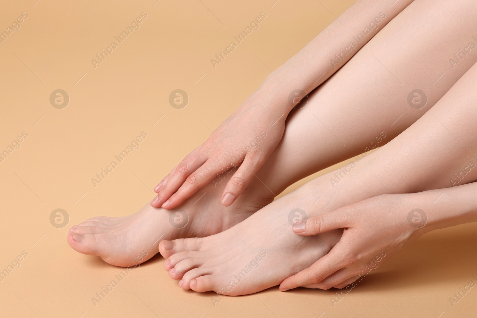
<svg viewBox="0 0 477 318"><path fill-rule="evenodd" d="M417 2L426 6L429 1ZM141 256L143 251L147 256L140 257L140 262L155 255L159 238L170 240L221 232L270 203L275 195L302 177L385 144L425 113L456 81L457 75L465 72L468 61L477 60L477 54L475 58L469 54L453 71L452 74L457 75L444 75L432 85L435 73L440 72L440 63L446 61L453 47L459 47L462 36L460 24L453 24L451 15L441 17L445 9L438 6L426 10L444 22L435 33L426 29L425 24L419 22L422 10L419 6L404 10L313 92L305 108L290 115L282 142L233 205L224 207L220 203L230 176L224 174L178 209L166 211L146 204L127 217L89 219L71 231L68 243L75 250L98 255L110 264L131 266L133 261L138 262L136 256ZM412 39L399 36L423 29L426 31L419 31ZM448 33L453 36L444 36ZM400 52L403 41L407 49ZM418 63L413 57L419 50L435 52L426 63ZM429 68L437 71L429 72ZM343 88L346 94L342 93ZM428 96L425 107L420 110L406 102L414 88L422 89ZM380 142L376 138L380 138ZM187 224L178 228L186 220ZM175 223L179 221L183 224Z"/></svg>

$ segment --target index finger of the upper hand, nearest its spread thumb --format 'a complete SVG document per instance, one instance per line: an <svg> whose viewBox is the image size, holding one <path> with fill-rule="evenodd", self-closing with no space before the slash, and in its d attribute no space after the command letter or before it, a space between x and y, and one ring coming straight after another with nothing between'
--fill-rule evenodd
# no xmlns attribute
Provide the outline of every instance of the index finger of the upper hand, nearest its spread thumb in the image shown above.
<svg viewBox="0 0 477 318"><path fill-rule="evenodd" d="M218 160L218 159L216 159ZM227 166L225 162L218 162L214 159L209 159L205 164L198 168L195 172L187 177L183 185L174 193L163 205L163 208L172 209L180 205L191 195L195 194L197 190L207 185L209 182L218 177L219 174L226 177L228 175L227 169L218 167ZM230 167L229 167L230 168Z"/></svg>

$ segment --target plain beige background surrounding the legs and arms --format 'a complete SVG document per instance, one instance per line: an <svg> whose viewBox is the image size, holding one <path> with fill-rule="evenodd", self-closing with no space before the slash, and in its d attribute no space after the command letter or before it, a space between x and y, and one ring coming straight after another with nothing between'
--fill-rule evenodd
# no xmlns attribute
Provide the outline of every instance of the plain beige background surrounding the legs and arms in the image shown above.
<svg viewBox="0 0 477 318"><path fill-rule="evenodd" d="M277 287L224 297L214 306L214 293L177 287L160 256L133 270L93 306L91 298L122 269L71 249L65 239L69 227L95 215L129 215L152 199L156 183L239 107L269 70L353 3L274 1L2 1L0 31L22 12L28 18L0 44L0 151L21 132L28 137L0 163L0 270L22 251L28 256L0 282L1 317L475 315L476 287L455 307L449 297L470 280L477 282L471 248L476 224L421 237L334 307L330 297L336 289L281 293ZM141 12L147 18L140 29L94 68L91 59ZM260 12L267 18L259 30L214 69L210 59ZM70 96L64 109L49 102L56 89ZM184 109L168 103L175 89L189 95ZM140 148L93 187L91 178L142 131L148 136ZM57 208L70 215L60 229L49 220Z"/></svg>

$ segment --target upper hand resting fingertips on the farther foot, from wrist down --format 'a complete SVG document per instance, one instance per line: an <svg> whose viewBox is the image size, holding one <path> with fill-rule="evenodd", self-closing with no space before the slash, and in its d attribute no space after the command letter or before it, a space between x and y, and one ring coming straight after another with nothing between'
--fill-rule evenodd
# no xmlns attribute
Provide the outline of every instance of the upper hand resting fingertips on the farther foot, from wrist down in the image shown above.
<svg viewBox="0 0 477 318"><path fill-rule="evenodd" d="M237 199L279 144L293 107L272 108L260 96L250 96L156 186L158 195L152 206L174 208L207 183L218 183L228 174L233 176L222 193L222 204L229 206Z"/></svg>

